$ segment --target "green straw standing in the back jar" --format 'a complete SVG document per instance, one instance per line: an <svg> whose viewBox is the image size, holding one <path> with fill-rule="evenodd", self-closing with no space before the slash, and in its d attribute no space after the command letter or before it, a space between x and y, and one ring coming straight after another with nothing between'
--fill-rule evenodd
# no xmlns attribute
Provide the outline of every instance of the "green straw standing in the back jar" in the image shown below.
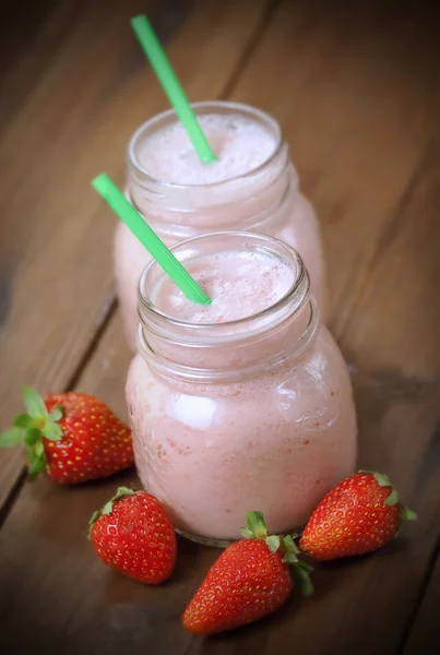
<svg viewBox="0 0 440 655"><path fill-rule="evenodd" d="M183 123L194 151L205 164L215 162L217 157L206 141L187 94L177 79L148 19L142 14L131 19L130 23L169 102Z"/></svg>

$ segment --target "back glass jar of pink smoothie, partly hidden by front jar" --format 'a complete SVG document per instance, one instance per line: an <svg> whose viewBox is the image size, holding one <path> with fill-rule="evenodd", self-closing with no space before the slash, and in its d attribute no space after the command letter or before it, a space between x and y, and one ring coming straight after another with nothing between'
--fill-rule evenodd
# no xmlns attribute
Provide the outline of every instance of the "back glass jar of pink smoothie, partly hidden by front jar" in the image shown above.
<svg viewBox="0 0 440 655"><path fill-rule="evenodd" d="M233 126L237 123L252 128L246 140L239 141L239 146L241 150L246 147L248 154L255 152L255 157L258 156L258 140L264 135L264 160L252 168L252 155L249 154L247 165L251 168L235 175L234 167L240 165L242 169L242 162L234 164L235 159L230 158L227 179L212 183L198 183L194 178L191 178L191 183L157 179L145 168L145 160L153 159L158 148L157 143L152 141L148 150L150 141L157 139L164 130L179 126L174 110L165 111L142 124L130 140L126 189L130 202L168 246L201 234L231 229L258 231L282 239L304 258L321 315L325 319L326 281L319 224L311 204L298 189L298 176L278 123L267 114L237 103L197 103L193 108L217 152L224 147L224 143L221 143L222 134L218 131L211 132L209 121L212 117L219 116L223 119L226 117ZM206 124L203 121L207 121ZM233 136L229 132L227 139L230 143L234 141L234 131ZM192 151L190 156L186 155L181 160L180 141L175 150L173 139L168 139L165 145L166 152L170 153L170 166L177 167L173 174L175 178L182 176L182 167L185 170L188 168L197 171L202 166L192 162L191 157L195 157ZM237 150L236 159L239 159L240 148ZM216 164L204 166L215 167ZM121 222L116 229L114 255L116 287L126 335L134 350L138 283L151 258Z"/></svg>

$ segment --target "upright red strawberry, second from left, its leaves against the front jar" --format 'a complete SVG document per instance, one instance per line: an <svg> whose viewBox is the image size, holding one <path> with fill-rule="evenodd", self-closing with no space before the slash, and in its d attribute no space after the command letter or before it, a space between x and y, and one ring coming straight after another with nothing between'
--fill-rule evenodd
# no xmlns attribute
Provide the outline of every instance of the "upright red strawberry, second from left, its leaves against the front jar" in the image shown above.
<svg viewBox="0 0 440 655"><path fill-rule="evenodd" d="M112 569L147 584L167 580L176 563L176 534L159 501L119 487L90 520L97 556Z"/></svg>

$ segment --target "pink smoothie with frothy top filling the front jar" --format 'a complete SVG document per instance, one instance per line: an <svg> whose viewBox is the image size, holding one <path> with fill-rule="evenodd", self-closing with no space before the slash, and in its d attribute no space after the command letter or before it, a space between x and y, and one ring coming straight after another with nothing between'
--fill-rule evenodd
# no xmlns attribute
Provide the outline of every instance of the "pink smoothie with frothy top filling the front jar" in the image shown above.
<svg viewBox="0 0 440 655"><path fill-rule="evenodd" d="M155 311L187 325L181 343L144 327L148 345L129 371L141 481L197 537L238 538L249 510L263 511L273 532L298 527L355 467L343 357L311 318L308 278L298 286L293 261L225 250L185 265L213 302L188 301L163 275L151 290ZM170 362L192 367L194 378L167 370Z"/></svg>

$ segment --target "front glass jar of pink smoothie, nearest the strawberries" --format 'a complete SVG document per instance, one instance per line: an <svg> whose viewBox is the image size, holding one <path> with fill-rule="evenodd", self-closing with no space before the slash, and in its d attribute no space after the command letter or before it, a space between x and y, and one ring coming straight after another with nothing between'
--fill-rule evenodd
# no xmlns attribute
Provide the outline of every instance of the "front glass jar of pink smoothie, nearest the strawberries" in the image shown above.
<svg viewBox="0 0 440 655"><path fill-rule="evenodd" d="M302 260L250 233L204 235L173 250L183 264L264 252L292 266L295 282L264 311L200 324L158 310L152 295L164 273L146 267L127 381L141 483L201 543L238 538L249 510L262 511L271 532L295 529L356 461L348 370L319 321Z"/></svg>

